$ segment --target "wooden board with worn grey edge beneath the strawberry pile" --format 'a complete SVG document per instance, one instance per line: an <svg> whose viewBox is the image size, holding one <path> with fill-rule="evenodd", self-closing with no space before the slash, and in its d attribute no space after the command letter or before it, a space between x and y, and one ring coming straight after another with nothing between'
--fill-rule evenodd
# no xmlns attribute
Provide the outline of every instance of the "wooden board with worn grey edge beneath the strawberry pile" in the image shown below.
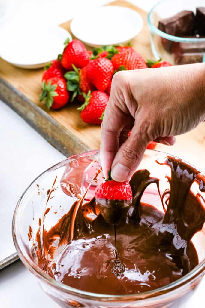
<svg viewBox="0 0 205 308"><path fill-rule="evenodd" d="M145 59L153 59L147 13L123 0L109 5L129 7L140 13L144 26L132 40L132 45ZM70 32L70 21L61 26ZM42 72L42 69L17 68L0 58L0 98L66 156L99 148L100 127L84 123L76 104L68 104L59 111L48 111L39 102ZM159 144L156 149L182 157L205 172L205 123L178 136L173 147Z"/></svg>

